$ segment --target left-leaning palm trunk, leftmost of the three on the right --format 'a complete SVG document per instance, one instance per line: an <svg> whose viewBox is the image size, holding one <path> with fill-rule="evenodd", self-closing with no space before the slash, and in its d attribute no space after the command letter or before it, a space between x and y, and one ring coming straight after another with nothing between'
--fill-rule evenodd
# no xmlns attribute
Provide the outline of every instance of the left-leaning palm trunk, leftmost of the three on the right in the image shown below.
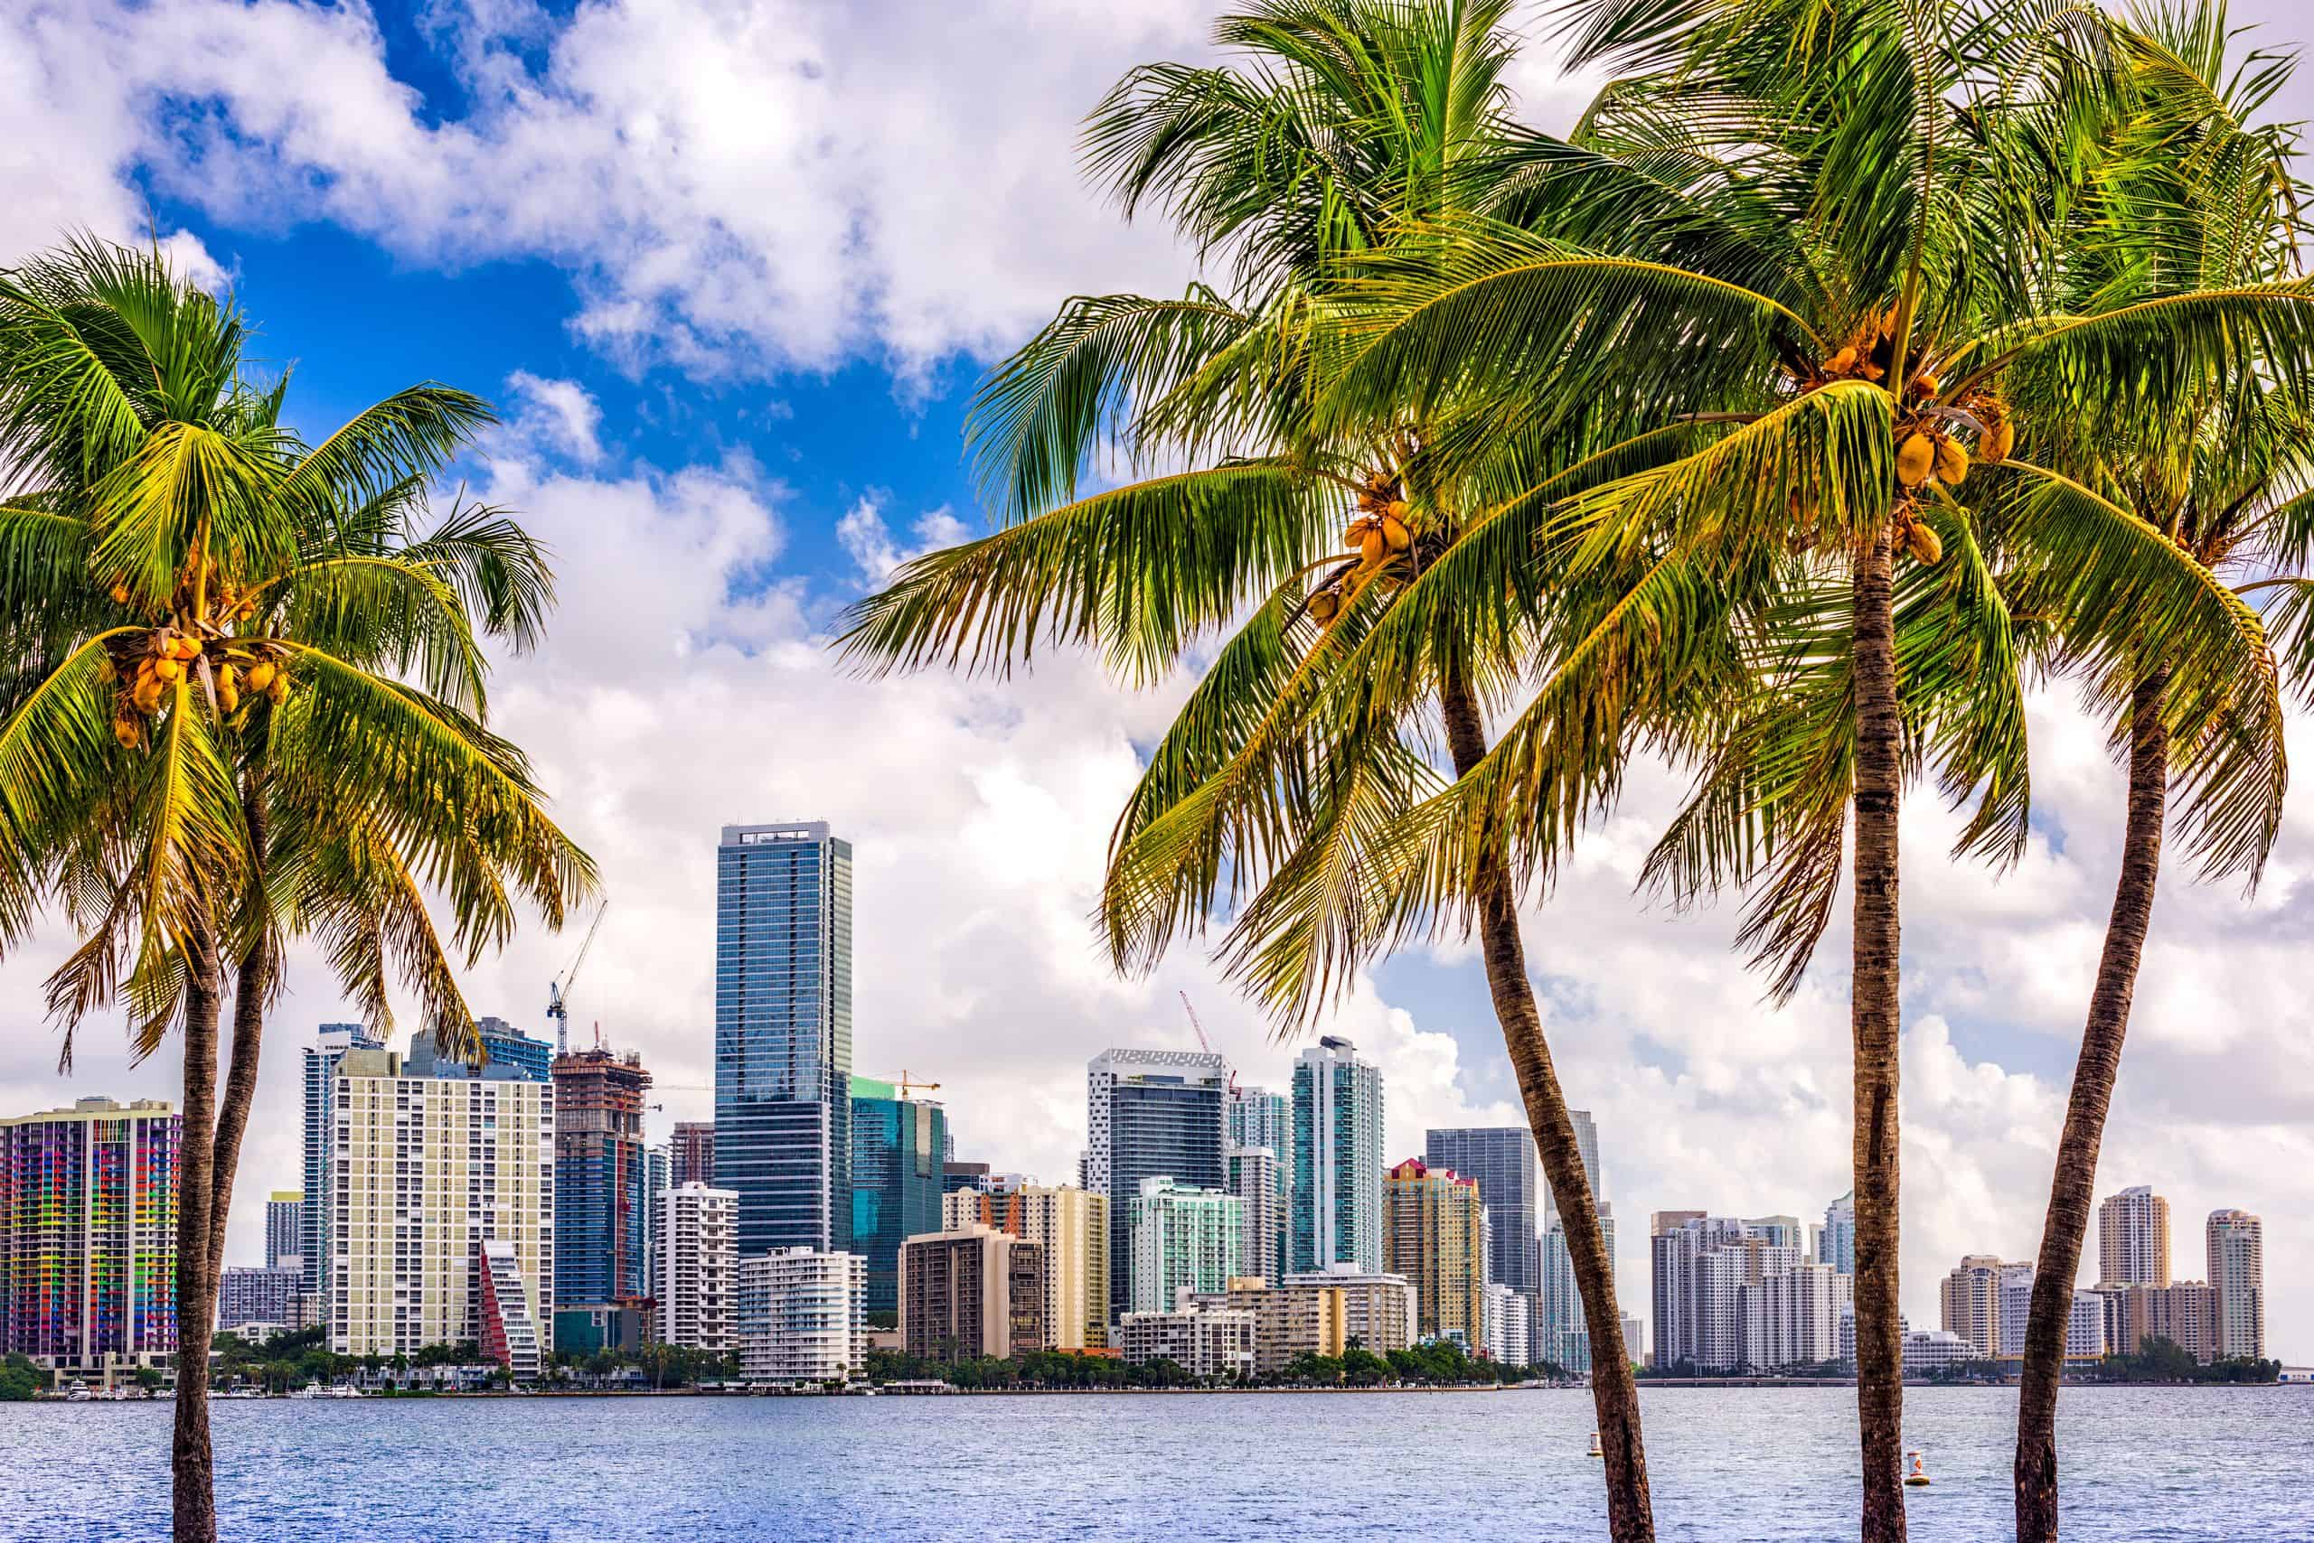
<svg viewBox="0 0 2314 1543"><path fill-rule="evenodd" d="M1453 664L1439 685L1439 708L1446 719L1446 747L1456 775L1467 775L1486 759L1486 724L1479 699ZM1567 1226L1567 1261L1574 1265L1576 1291L1583 1295L1583 1319L1592 1342L1592 1404L1599 1416L1599 1450L1606 1457L1606 1527L1613 1543L1652 1543L1655 1504L1648 1497L1648 1450L1638 1432L1638 1383L1631 1356L1622 1342L1622 1314L1615 1307L1615 1261L1599 1233L1599 1205L1590 1175L1583 1171L1583 1147L1576 1145L1576 1122L1567 1113L1560 1073L1543 1041L1543 1018L1534 1011L1534 985L1527 981L1527 951L1518 939L1518 907L1511 872L1499 854L1481 858L1479 874L1479 946L1486 955L1486 985L1495 997L1502 1043L1518 1073L1518 1094L1527 1106L1527 1127L1543 1161L1543 1177Z"/></svg>

